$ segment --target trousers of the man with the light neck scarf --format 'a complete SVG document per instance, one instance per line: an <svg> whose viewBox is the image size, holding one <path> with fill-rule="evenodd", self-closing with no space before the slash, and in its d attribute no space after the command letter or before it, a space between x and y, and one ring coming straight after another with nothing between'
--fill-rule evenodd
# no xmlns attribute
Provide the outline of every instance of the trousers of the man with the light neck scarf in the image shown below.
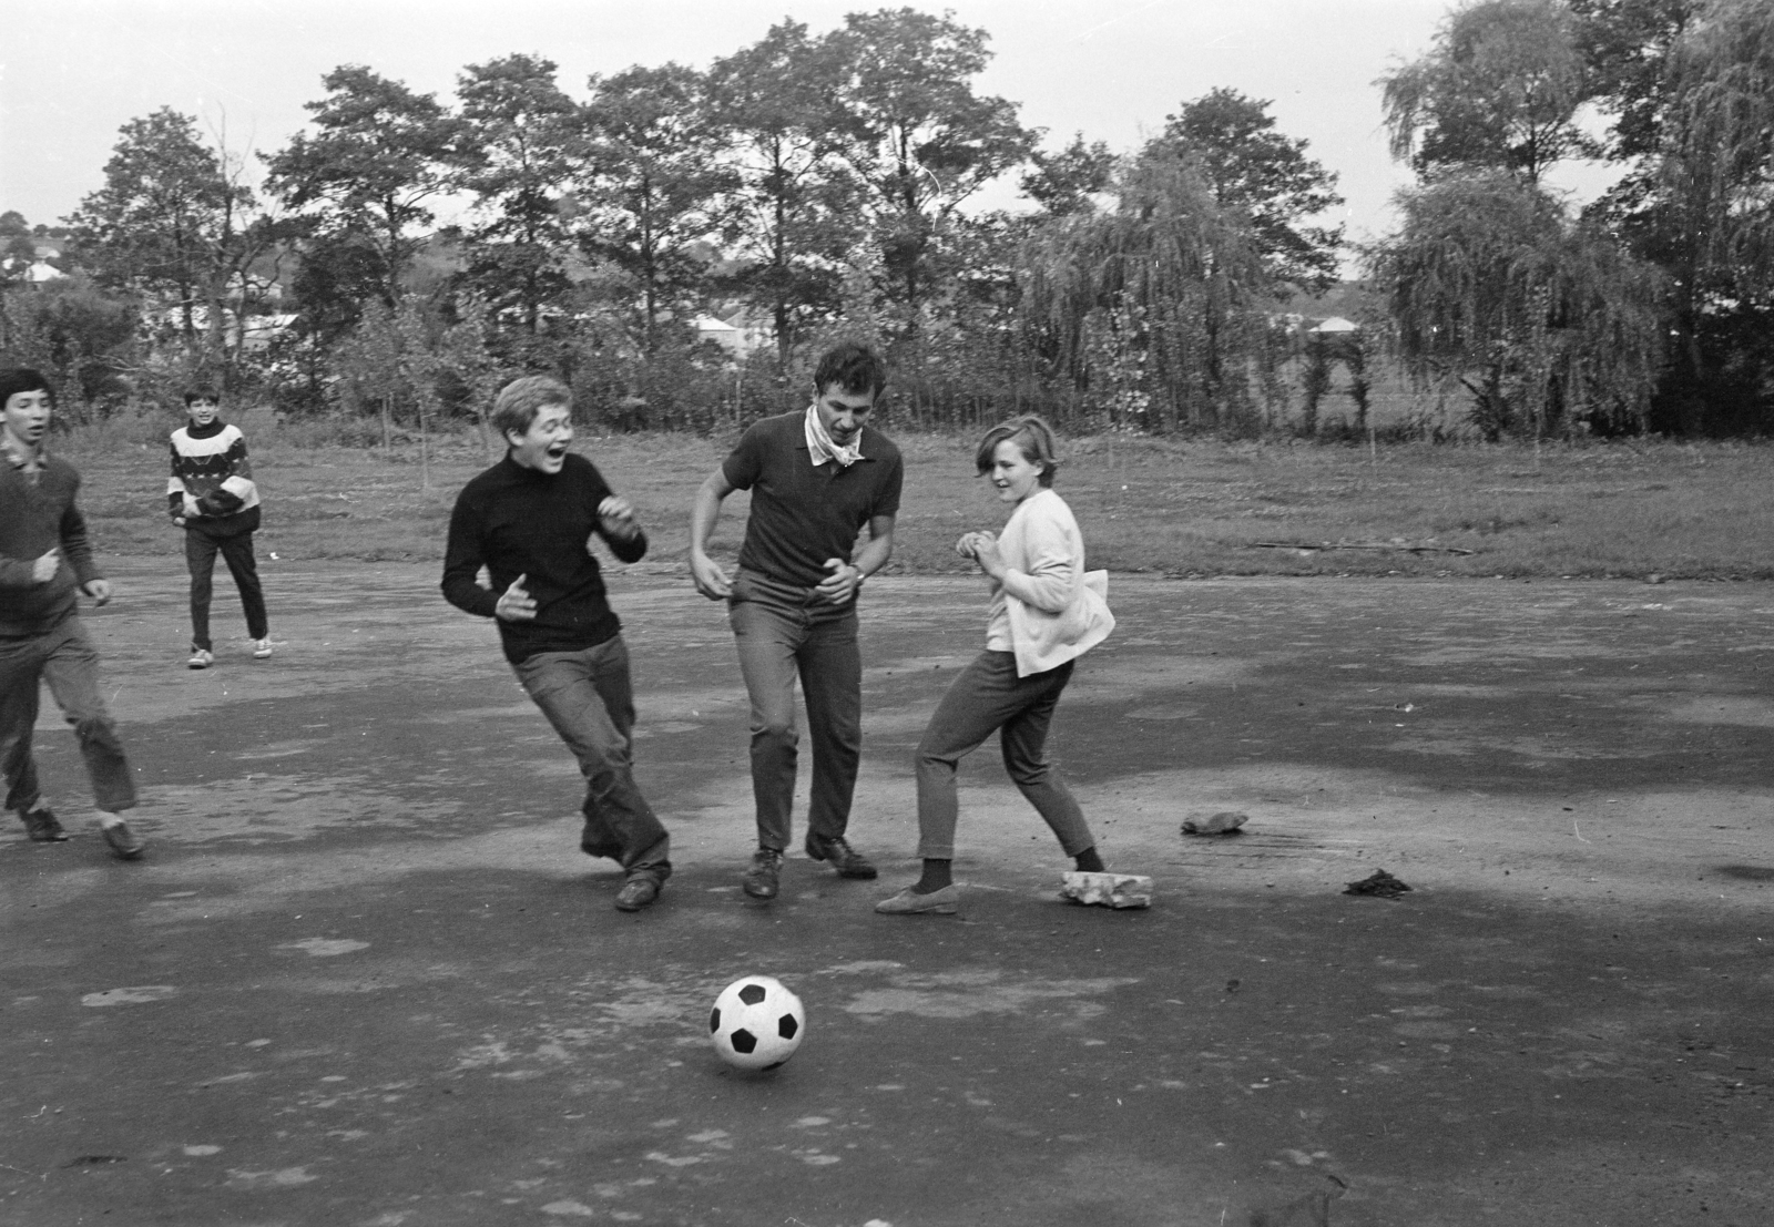
<svg viewBox="0 0 1774 1227"><path fill-rule="evenodd" d="M740 676L752 704L752 800L757 844L789 844L795 800L795 679L807 702L812 741L812 800L807 832L837 839L850 826L850 800L862 761L862 651L857 605L832 605L812 589L740 571L727 599L740 649Z"/></svg>

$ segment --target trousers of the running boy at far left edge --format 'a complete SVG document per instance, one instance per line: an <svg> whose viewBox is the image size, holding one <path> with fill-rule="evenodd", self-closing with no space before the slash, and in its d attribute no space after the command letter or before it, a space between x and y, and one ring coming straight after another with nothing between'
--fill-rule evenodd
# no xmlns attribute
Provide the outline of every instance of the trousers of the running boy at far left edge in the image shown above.
<svg viewBox="0 0 1774 1227"><path fill-rule="evenodd" d="M135 777L99 693L99 654L78 615L62 619L44 635L0 638L0 771L5 773L5 807L23 812L43 798L37 762L30 754L39 681L48 683L62 715L75 727L98 807L106 814L133 807Z"/></svg>

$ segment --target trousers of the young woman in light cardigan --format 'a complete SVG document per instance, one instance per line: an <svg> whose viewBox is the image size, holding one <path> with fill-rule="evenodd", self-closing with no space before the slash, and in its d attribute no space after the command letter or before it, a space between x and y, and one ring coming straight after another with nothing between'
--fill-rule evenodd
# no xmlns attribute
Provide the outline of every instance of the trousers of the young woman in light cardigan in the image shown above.
<svg viewBox="0 0 1774 1227"><path fill-rule="evenodd" d="M1045 674L1017 676L1011 653L981 653L962 670L917 743L917 855L954 860L960 798L954 771L962 759L999 731L1004 770L1059 837L1066 856L1095 848L1091 828L1071 791L1047 762L1047 727L1071 681L1071 661Z"/></svg>

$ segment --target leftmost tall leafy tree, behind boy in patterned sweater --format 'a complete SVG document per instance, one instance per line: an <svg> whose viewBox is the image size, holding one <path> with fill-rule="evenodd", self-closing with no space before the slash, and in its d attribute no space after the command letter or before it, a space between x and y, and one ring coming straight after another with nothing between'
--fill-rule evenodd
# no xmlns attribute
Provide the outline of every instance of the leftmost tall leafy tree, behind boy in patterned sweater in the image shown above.
<svg viewBox="0 0 1774 1227"><path fill-rule="evenodd" d="M174 310L188 346L202 330L208 360L224 356L227 301L245 296L248 268L277 239L275 222L232 172L199 138L195 119L163 106L122 126L105 186L69 218L94 280Z"/></svg>

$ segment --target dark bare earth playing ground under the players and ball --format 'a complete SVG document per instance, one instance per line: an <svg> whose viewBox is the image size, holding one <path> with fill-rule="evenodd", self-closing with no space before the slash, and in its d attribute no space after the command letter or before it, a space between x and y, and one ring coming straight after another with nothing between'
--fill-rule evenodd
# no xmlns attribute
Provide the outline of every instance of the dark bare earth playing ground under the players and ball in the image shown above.
<svg viewBox="0 0 1774 1227"><path fill-rule="evenodd" d="M869 585L883 879L797 853L756 906L726 621L642 566L616 605L678 874L630 917L435 566L266 573L264 663L220 578L231 638L183 668L170 559L89 614L144 862L103 855L46 702L82 817L0 842L4 1223L1774 1222L1767 585L1116 578L1054 746L1157 904L1059 903L988 746L962 915L889 918L977 583ZM1249 833L1178 833L1219 809ZM1414 892L1341 894L1380 867ZM749 972L809 1009L775 1075L706 1043Z"/></svg>

